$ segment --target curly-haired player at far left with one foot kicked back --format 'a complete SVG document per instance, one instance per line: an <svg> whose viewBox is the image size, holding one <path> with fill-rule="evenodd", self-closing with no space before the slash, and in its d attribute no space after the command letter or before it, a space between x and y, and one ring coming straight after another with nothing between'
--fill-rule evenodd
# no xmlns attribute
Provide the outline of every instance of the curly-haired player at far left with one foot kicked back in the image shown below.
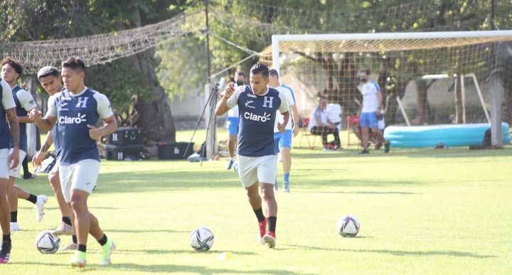
<svg viewBox="0 0 512 275"><path fill-rule="evenodd" d="M16 104L16 116L18 117L19 125L19 159L20 163L13 170L9 171L9 185L7 187L7 199L9 201L9 208L11 209L11 231L19 230L18 225L18 198L26 199L28 202L32 202L36 208L36 220L41 222L44 217L44 204L48 201L46 195L35 196L29 192L26 192L21 187L15 186L14 181L16 178L21 178L21 160L26 156L27 152L27 135L26 135L26 123L32 123L28 118L28 112L31 110L39 110L36 103L33 100L31 93L23 90L20 86L16 85L18 78L23 75L23 66L19 61L14 58L4 58L0 63L2 71L1 78L9 84L12 90L14 103ZM11 148L13 147L11 142Z"/></svg>

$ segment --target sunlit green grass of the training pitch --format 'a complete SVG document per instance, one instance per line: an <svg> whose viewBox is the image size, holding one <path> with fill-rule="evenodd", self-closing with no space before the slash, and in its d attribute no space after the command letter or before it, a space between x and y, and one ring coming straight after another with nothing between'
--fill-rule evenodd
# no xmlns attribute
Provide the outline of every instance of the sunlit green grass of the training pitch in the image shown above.
<svg viewBox="0 0 512 275"><path fill-rule="evenodd" d="M196 135L201 145L204 135ZM176 140L190 138L186 131ZM202 166L186 160L103 161L89 205L118 250L112 266L99 266L100 246L90 239L86 274L511 272L512 147L292 154L291 192L276 194L276 249L257 242L255 215L238 175L224 170L225 160ZM19 202L22 231L14 232L11 262L0 273L76 274L66 264L70 252L43 255L34 246L38 232L60 222L46 175L17 183L51 196L40 223L32 205ZM342 214L359 219L358 237L336 233ZM208 252L188 244L188 234L200 226L215 234ZM224 251L235 259L217 261Z"/></svg>

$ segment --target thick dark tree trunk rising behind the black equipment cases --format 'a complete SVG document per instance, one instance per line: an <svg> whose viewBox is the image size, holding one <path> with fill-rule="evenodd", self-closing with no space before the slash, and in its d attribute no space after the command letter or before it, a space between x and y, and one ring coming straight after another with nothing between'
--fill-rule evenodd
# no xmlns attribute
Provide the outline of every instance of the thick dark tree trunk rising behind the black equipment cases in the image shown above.
<svg viewBox="0 0 512 275"><path fill-rule="evenodd" d="M135 15L134 25L141 26L139 12ZM117 31L123 31L126 27L122 24L114 26ZM139 68L141 73L144 73L147 83L154 93L152 102L146 101L137 95L134 96L134 109L139 113L136 122L131 124L137 125L139 128L144 129L144 137L149 140L165 140L176 141L176 127L172 117L171 108L168 103L168 95L165 93L164 88L159 84L156 78L154 65L155 50L149 48L142 53L130 56L136 68Z"/></svg>

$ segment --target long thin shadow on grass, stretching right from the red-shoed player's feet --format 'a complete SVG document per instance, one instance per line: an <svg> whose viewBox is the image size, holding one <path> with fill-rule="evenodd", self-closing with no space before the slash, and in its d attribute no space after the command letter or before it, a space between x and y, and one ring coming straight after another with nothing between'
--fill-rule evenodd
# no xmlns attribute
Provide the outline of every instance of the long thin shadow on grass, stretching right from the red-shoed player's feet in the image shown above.
<svg viewBox="0 0 512 275"><path fill-rule="evenodd" d="M458 256L458 257L471 257L471 258L496 258L496 255L479 255L471 252L464 251L404 251L404 250L390 250L390 249L327 249L324 247L308 247L302 245L289 244L288 247L297 247L313 250L325 251L344 251L344 252L367 252L367 253L382 253L394 256Z"/></svg>

